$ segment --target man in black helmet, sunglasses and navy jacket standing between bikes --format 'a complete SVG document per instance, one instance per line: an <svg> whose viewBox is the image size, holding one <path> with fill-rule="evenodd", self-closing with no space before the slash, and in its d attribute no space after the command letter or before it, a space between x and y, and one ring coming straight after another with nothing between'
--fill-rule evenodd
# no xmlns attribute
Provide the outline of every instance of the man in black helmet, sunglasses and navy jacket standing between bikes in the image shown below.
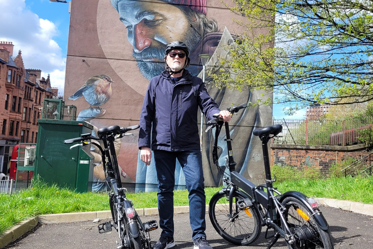
<svg viewBox="0 0 373 249"><path fill-rule="evenodd" d="M200 107L208 119L219 113L224 122L229 122L231 115L226 110L220 111L203 81L184 69L190 63L185 43L173 41L167 45L165 52L166 71L152 78L145 93L138 140L140 159L146 165L150 165L153 150L158 179L159 226L162 233L154 249L175 246L173 190L176 159L183 168L189 192L194 249L211 249L204 232L206 197L197 111Z"/></svg>

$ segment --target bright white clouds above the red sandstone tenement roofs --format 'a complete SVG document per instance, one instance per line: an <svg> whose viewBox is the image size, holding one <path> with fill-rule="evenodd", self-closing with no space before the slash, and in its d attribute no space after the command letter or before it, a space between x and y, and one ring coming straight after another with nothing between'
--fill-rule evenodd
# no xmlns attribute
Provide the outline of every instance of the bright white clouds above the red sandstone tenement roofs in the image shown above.
<svg viewBox="0 0 373 249"><path fill-rule="evenodd" d="M66 55L55 40L56 25L28 10L25 0L0 0L0 40L13 42L13 56L21 50L26 69L40 69L43 77L51 74L51 86L64 92Z"/></svg>

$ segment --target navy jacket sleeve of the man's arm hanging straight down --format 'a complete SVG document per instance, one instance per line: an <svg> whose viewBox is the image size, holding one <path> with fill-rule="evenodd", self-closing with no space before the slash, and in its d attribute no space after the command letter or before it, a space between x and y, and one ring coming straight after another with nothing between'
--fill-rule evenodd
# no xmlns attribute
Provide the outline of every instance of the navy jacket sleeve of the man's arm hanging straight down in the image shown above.
<svg viewBox="0 0 373 249"><path fill-rule="evenodd" d="M153 80L146 89L144 102L140 114L140 129L138 132L138 148L142 146L151 147L151 130L155 106L153 103Z"/></svg>

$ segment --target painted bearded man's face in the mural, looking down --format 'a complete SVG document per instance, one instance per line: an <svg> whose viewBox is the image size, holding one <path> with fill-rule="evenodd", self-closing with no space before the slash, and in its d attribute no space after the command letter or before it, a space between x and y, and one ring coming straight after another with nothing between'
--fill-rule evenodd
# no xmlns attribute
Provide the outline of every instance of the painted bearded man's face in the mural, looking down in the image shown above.
<svg viewBox="0 0 373 249"><path fill-rule="evenodd" d="M191 49L201 39L183 12L164 1L121 0L118 11L137 66L147 79L164 70L163 57L171 41L183 40Z"/></svg>

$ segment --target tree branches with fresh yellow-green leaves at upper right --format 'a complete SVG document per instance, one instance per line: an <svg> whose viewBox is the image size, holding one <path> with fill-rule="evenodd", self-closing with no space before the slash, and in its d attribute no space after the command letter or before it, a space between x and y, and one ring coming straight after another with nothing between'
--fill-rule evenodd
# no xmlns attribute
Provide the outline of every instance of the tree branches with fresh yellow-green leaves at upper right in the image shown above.
<svg viewBox="0 0 373 249"><path fill-rule="evenodd" d="M229 8L244 32L225 47L230 56L219 58L219 71L208 71L215 86L273 91L288 113L373 99L372 0L234 3Z"/></svg>

